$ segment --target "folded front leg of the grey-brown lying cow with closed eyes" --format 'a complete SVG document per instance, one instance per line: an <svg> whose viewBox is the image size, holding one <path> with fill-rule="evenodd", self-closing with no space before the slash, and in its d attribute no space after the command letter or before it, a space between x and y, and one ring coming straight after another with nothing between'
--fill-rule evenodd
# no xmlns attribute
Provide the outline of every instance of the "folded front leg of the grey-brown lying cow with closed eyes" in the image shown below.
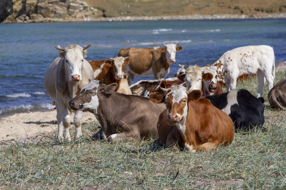
<svg viewBox="0 0 286 190"><path fill-rule="evenodd" d="M130 132L130 133L122 132L122 133L116 133L116 134L110 135L106 139L106 142L108 144L114 144L116 142L134 141L134 140L140 141L139 133L137 135L134 135L134 132Z"/></svg>

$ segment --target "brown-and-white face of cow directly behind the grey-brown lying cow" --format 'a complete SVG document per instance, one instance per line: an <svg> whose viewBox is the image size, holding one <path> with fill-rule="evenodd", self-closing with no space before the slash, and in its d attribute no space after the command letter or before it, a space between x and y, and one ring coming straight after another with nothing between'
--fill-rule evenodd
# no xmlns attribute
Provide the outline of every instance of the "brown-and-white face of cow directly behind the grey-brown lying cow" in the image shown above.
<svg viewBox="0 0 286 190"><path fill-rule="evenodd" d="M116 79L123 79L125 74L125 65L129 65L130 57L115 57L109 58L113 60L113 72Z"/></svg>

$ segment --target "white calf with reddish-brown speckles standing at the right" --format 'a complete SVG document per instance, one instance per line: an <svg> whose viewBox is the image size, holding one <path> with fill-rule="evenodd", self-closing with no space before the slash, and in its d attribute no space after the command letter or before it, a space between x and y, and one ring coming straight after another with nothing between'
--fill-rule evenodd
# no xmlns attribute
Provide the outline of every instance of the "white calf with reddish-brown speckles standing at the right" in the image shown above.
<svg viewBox="0 0 286 190"><path fill-rule="evenodd" d="M236 88L237 78L243 74L255 74L258 78L257 97L261 97L265 79L268 90L275 78L275 55L267 45L243 46L227 51L212 66L217 66L218 77L225 83L227 91Z"/></svg>

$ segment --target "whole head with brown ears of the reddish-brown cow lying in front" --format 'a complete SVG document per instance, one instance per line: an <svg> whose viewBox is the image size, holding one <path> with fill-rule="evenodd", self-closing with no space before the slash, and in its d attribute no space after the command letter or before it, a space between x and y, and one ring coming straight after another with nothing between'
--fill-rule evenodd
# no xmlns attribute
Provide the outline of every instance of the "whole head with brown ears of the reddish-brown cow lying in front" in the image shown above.
<svg viewBox="0 0 286 190"><path fill-rule="evenodd" d="M196 101L202 96L202 91L189 91L188 87L183 85L171 86L168 89L163 89L166 95L158 92L150 94L150 99L154 103L165 102L167 109L166 121L169 125L176 125L182 133L185 132L185 123L188 113L188 101Z"/></svg>

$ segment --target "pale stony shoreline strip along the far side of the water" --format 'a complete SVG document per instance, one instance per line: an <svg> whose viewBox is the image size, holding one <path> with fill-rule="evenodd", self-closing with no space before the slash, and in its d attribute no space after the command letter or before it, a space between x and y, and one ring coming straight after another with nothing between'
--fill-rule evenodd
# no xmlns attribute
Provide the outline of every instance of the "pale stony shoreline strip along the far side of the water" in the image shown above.
<svg viewBox="0 0 286 190"><path fill-rule="evenodd" d="M41 18L37 20L28 21L9 21L1 24L8 23L54 23L54 22L114 22L114 21L162 21L162 20L220 20L220 19L286 19L286 13L276 14L256 14L256 15L180 15L180 16L126 16L126 17L99 17L99 18Z"/></svg>

